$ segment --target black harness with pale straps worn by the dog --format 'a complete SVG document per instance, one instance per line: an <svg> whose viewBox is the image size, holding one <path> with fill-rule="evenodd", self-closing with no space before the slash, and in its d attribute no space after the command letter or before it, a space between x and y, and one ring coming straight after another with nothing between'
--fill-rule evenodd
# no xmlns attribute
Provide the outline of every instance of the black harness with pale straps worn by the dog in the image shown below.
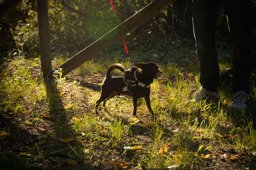
<svg viewBox="0 0 256 170"><path fill-rule="evenodd" d="M137 75L139 74L138 72L138 68L137 67L132 67L131 69L127 69L124 71L124 82L125 84L127 84L127 86L125 86L123 88L123 91L128 91L129 87L134 87L136 85L139 85L140 87L143 88L149 88L150 85L145 85L144 83L141 83L138 78Z"/></svg>

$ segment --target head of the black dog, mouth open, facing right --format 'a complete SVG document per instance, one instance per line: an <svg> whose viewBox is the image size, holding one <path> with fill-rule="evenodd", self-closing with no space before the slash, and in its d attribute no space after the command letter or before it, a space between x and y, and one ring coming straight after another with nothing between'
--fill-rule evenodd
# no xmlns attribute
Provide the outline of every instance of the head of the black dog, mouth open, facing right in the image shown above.
<svg viewBox="0 0 256 170"><path fill-rule="evenodd" d="M136 67L139 67L142 69L142 74L145 76L148 76L150 78L159 78L162 74L161 71L159 71L159 68L156 63L154 62L147 62L147 63L134 63Z"/></svg>

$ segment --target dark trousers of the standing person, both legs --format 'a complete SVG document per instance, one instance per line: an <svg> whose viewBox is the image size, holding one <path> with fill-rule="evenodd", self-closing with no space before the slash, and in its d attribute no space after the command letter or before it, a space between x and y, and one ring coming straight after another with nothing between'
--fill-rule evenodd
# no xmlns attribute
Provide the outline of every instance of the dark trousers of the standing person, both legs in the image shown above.
<svg viewBox="0 0 256 170"><path fill-rule="evenodd" d="M218 91L220 69L215 44L218 10L225 10L233 42L233 91L250 93L252 69L252 6L250 0L193 0L193 29L200 62L200 83Z"/></svg>

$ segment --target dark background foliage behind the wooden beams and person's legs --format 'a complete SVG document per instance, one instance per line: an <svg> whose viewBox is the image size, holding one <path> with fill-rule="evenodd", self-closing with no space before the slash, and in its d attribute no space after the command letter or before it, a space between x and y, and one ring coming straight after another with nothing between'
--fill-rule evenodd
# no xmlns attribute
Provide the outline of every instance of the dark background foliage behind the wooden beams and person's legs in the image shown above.
<svg viewBox="0 0 256 170"><path fill-rule="evenodd" d="M0 2L3 3L3 1ZM121 22L150 3L150 0L125 0L114 1L114 3L119 22ZM256 1L252 0L252 3L253 11L256 11ZM71 57L118 25L109 0L49 0L48 7L52 56ZM220 11L219 16L216 31L218 47L230 49L227 21L223 10ZM253 12L252 22L255 47L255 12ZM36 1L23 0L0 18L0 35L1 58L21 53L26 54L26 57L38 57ZM161 13L150 18L146 24L136 28L131 32L131 36L125 39L129 42L129 50L141 48L141 52L150 51L152 45L156 44L159 44L157 48L162 52L172 50L172 42L177 41L189 42L189 46L193 46L191 0L175 1L172 6L168 6ZM165 41L161 42L161 39ZM114 44L111 50L120 48L120 45L122 42Z"/></svg>

